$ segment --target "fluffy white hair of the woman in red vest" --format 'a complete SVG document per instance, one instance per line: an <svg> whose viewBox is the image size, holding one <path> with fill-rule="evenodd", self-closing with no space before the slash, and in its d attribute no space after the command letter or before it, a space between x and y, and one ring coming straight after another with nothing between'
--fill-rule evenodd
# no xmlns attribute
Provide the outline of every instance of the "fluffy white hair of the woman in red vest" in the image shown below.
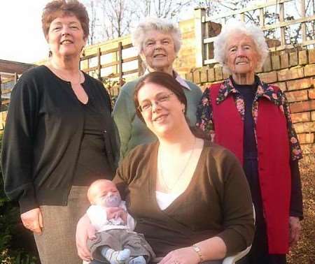
<svg viewBox="0 0 315 264"><path fill-rule="evenodd" d="M221 33L216 37L216 40L214 41L214 59L223 66L223 71L225 71L225 73L231 73L230 69L225 64L225 52L228 38L235 33L245 34L253 39L256 50L260 56L255 70L259 70L264 64L269 53L264 33L259 27L256 27L253 24L245 24L239 20L229 20L223 27Z"/></svg>

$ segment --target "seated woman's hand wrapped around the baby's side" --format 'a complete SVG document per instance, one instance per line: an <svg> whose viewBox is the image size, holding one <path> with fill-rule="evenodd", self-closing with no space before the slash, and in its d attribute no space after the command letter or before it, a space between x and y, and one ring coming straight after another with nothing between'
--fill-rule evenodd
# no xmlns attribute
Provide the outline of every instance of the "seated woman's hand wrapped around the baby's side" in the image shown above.
<svg viewBox="0 0 315 264"><path fill-rule="evenodd" d="M78 256L83 261L91 261L92 256L89 249L87 249L87 239L94 240L95 229L90 223L90 219L85 214L80 218L76 225L76 249L78 250Z"/></svg>

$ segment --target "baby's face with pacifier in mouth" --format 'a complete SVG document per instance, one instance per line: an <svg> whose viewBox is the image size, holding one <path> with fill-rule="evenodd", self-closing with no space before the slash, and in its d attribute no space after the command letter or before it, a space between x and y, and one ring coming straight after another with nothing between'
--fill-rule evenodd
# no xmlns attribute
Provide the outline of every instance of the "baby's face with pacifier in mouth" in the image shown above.
<svg viewBox="0 0 315 264"><path fill-rule="evenodd" d="M94 204L104 207L117 207L121 198L116 185L112 182L102 182L94 186Z"/></svg>

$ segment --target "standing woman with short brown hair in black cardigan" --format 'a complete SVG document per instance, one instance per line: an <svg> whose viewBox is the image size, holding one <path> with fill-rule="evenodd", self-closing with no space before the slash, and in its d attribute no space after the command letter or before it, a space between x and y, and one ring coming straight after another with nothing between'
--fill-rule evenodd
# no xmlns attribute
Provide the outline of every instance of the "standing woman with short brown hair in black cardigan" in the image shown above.
<svg viewBox="0 0 315 264"><path fill-rule="evenodd" d="M111 101L79 70L89 18L82 3L51 1L43 11L45 66L24 73L11 95L1 166L7 196L20 203L41 263L80 263L75 228L87 186L112 179L118 146Z"/></svg>

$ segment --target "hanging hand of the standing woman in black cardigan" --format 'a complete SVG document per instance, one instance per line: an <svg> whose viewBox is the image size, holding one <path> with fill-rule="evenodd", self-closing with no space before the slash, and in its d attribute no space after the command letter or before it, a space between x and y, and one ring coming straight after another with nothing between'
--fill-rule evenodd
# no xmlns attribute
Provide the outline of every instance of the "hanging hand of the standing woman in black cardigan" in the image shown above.
<svg viewBox="0 0 315 264"><path fill-rule="evenodd" d="M41 209L37 207L29 210L21 214L21 219L25 228L31 230L31 232L41 235L41 228L43 228L43 216L41 214Z"/></svg>

